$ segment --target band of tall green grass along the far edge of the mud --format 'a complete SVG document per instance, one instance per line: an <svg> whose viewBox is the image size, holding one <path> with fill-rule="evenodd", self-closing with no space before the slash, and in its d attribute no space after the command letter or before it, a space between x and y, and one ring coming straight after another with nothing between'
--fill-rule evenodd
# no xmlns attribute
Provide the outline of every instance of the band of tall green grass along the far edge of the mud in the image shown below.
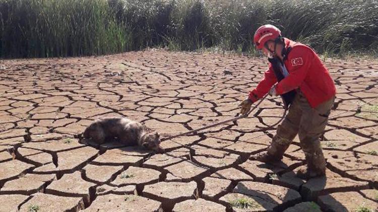
<svg viewBox="0 0 378 212"><path fill-rule="evenodd" d="M254 53L251 37L263 24L320 53L377 53L378 0L0 0L0 56Z"/></svg>

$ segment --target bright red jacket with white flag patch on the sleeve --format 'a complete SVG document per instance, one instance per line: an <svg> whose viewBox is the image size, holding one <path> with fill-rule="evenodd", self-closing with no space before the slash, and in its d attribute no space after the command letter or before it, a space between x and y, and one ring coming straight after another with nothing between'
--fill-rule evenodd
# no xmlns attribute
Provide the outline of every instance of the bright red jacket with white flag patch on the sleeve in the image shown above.
<svg viewBox="0 0 378 212"><path fill-rule="evenodd" d="M335 96L334 81L319 56L304 44L296 43L287 38L284 41L286 48L292 48L287 60L284 61L289 75L277 84L277 93L284 94L299 88L312 108L316 108L322 102ZM254 90L249 92L249 98L256 101L256 97L263 97L276 82L277 78L272 65L269 64L269 69L264 73L264 79Z"/></svg>

